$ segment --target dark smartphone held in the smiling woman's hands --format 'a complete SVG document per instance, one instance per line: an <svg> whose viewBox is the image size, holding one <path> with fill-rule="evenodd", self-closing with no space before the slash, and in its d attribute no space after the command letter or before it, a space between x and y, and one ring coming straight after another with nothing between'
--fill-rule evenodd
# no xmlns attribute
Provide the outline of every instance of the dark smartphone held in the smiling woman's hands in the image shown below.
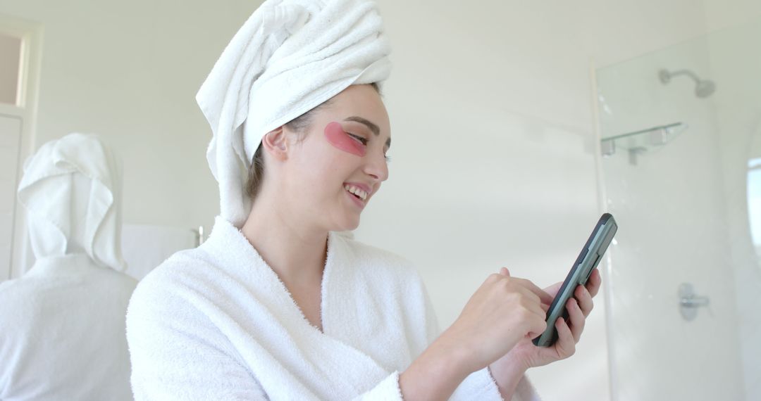
<svg viewBox="0 0 761 401"><path fill-rule="evenodd" d="M613 219L610 213L605 213L600 217L597 226L594 226L592 235L587 239L587 243L584 244L584 248L578 254L576 261L571 267L571 271L565 277L565 281L560 287L558 294L552 300L552 305L549 305L546 318L547 329L544 330L541 336L533 339L534 345L543 347L552 346L558 339L558 331L555 330L556 320L558 320L558 317L568 319L568 311L565 310L565 304L573 296L576 286L584 286L587 283L592 270L597 267L597 264L600 264L600 260L603 258L603 254L607 250L608 245L610 245L610 242L613 241L613 235L616 235L617 230L616 219Z"/></svg>

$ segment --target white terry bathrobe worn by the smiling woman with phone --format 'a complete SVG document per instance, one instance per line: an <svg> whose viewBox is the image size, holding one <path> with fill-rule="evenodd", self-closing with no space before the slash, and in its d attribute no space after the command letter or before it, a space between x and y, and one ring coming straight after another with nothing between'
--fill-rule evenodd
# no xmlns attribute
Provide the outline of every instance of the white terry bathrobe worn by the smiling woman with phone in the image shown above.
<svg viewBox="0 0 761 401"><path fill-rule="evenodd" d="M402 398L399 374L438 335L406 260L330 233L323 332L238 229L218 218L209 240L148 274L127 314L135 399ZM526 380L519 393L535 396ZM501 399L489 371L452 399Z"/></svg>

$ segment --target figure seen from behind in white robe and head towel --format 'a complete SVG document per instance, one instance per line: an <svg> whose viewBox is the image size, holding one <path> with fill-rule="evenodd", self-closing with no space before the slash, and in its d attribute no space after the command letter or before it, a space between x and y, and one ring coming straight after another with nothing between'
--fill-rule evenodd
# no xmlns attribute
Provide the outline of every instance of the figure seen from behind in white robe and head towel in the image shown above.
<svg viewBox="0 0 761 401"><path fill-rule="evenodd" d="M18 194L37 259L0 283L0 399L129 400L120 175L94 135L44 144Z"/></svg>

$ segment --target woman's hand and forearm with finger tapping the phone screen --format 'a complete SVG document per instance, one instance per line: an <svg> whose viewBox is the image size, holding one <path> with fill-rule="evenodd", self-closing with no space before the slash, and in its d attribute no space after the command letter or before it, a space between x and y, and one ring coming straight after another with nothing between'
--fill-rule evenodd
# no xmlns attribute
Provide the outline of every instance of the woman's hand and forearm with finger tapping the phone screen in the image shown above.
<svg viewBox="0 0 761 401"><path fill-rule="evenodd" d="M467 375L486 368L521 339L543 333L542 304L549 302L552 297L527 279L489 276L454 324L400 374L404 399L449 399Z"/></svg>

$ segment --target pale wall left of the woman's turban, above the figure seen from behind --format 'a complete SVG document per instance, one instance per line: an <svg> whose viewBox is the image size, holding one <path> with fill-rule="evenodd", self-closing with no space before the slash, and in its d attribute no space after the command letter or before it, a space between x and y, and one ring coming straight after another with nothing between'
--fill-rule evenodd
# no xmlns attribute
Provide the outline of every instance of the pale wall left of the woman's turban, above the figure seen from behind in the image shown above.
<svg viewBox="0 0 761 401"><path fill-rule="evenodd" d="M195 94L259 4L0 0L0 13L43 25L34 148L100 134L123 159L127 223L209 228L218 191Z"/></svg>

